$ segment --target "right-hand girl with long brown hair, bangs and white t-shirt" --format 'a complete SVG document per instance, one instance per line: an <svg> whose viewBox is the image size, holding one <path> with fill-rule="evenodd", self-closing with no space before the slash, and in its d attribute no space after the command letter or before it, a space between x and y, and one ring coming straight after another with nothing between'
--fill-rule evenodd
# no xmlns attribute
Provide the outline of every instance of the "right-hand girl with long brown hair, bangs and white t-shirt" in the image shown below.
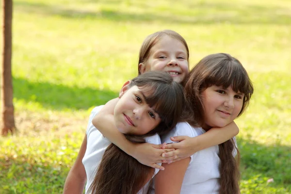
<svg viewBox="0 0 291 194"><path fill-rule="evenodd" d="M194 66L185 84L185 122L162 136L162 142L172 143L172 136L191 138L226 126L244 112L253 91L247 72L236 58L225 53L206 56ZM239 151L234 138L162 165L165 170L155 177L155 194L240 193Z"/></svg>

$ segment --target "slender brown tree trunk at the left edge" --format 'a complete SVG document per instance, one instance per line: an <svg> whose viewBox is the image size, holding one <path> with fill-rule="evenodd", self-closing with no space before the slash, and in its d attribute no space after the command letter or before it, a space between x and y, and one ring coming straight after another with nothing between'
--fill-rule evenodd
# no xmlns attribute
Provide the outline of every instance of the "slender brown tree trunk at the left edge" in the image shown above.
<svg viewBox="0 0 291 194"><path fill-rule="evenodd" d="M1 113L2 135L16 130L14 121L13 87L11 72L12 56L12 0L2 0L2 78L1 78Z"/></svg>

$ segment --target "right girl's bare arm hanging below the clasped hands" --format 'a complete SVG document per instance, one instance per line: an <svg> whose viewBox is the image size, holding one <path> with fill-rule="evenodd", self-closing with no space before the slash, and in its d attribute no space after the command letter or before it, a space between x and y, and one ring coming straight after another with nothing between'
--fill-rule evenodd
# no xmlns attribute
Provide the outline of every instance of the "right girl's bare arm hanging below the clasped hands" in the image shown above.
<svg viewBox="0 0 291 194"><path fill-rule="evenodd" d="M155 194L180 194L190 157L171 164L163 163L164 171L155 176Z"/></svg>

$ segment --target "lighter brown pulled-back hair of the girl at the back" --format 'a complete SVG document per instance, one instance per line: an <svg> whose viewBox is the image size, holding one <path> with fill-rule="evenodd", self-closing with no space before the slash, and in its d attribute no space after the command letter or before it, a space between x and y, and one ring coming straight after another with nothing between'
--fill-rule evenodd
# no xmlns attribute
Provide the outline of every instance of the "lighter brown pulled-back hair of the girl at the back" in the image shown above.
<svg viewBox="0 0 291 194"><path fill-rule="evenodd" d="M142 47L139 52L139 60L138 60L138 75L141 74L139 69L139 64L145 63L150 55L151 48L155 46L165 35L170 36L171 38L175 38L180 41L187 50L187 61L189 63L189 48L186 43L186 40L177 32L171 30L163 30L159 32L152 33L146 37L144 40Z"/></svg>

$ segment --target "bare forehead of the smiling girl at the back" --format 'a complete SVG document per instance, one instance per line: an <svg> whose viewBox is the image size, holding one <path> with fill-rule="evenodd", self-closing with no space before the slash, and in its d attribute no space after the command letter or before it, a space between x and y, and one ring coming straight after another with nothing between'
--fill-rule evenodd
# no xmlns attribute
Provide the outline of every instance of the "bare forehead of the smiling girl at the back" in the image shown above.
<svg viewBox="0 0 291 194"><path fill-rule="evenodd" d="M178 51L187 53L187 49L181 41L168 35L162 36L162 38L150 49L150 52L153 53L158 50L170 49L177 49Z"/></svg>

